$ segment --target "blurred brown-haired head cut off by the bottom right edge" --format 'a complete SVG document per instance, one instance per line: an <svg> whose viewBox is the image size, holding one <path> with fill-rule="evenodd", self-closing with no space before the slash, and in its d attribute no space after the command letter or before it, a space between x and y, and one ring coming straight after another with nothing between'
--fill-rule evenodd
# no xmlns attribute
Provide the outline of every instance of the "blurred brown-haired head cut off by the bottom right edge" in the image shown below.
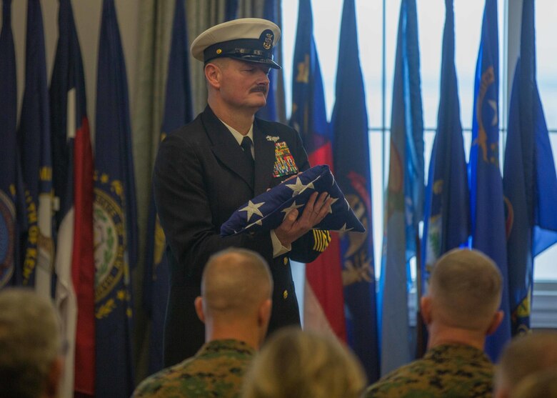
<svg viewBox="0 0 557 398"><path fill-rule="evenodd" d="M521 380L557 367L557 332L533 332L515 337L503 349L496 370L496 395L508 397Z"/></svg>

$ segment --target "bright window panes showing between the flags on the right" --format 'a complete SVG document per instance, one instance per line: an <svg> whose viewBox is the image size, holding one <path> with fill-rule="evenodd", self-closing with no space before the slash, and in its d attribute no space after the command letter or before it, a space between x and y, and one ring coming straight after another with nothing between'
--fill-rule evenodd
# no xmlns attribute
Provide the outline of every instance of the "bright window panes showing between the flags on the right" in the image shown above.
<svg viewBox="0 0 557 398"><path fill-rule="evenodd" d="M291 106L291 69L293 46L298 19L298 1L283 0L283 71L286 82L286 109ZM334 83L338 57L338 31L341 23L342 0L313 1L313 35L316 40L326 106L330 118L334 104ZM455 0L455 52L458 94L461 104L461 123L466 156L471 144L473 107L473 78L478 56L481 22L485 0ZM375 266L377 274L381 265L381 242L383 240L383 191L388 179L388 142L391 120L391 91L398 29L400 1L356 0L358 18L358 42L363 79L366 84L366 101L370 124L370 157L373 189L373 238L375 242ZM510 93L503 89L506 83L506 52L504 17L508 4L498 1L499 49L500 49L500 126L506 129L506 98ZM433 146L439 101L441 69L441 41L445 24L443 0L417 1L418 34L420 42L421 83L423 101L426 178L428 161ZM384 12L384 26L383 26ZM552 60L557 53L553 39L553 17L557 4L553 0L536 1L536 39L538 86L543 101L546 121L550 129L553 154L557 158L557 66ZM519 29L519 28L518 28ZM383 57L384 46L384 57ZM386 71L383 74L383 70ZM503 146L502 146L503 148ZM504 151L501 151L503 156ZM535 278L557 280L557 245L536 258Z"/></svg>

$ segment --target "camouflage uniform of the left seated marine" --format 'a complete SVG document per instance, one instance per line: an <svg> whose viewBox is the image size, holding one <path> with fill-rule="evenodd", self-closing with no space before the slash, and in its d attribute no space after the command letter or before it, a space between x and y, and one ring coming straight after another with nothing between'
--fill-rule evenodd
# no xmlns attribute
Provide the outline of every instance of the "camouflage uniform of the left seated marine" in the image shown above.
<svg viewBox="0 0 557 398"><path fill-rule="evenodd" d="M133 397L239 397L255 349L234 339L204 344L194 357L145 379Z"/></svg>

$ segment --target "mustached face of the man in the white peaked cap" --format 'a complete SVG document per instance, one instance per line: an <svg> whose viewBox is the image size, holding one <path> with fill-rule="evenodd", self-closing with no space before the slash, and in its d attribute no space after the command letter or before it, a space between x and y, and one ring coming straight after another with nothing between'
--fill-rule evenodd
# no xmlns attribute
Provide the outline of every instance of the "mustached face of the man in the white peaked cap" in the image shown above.
<svg viewBox="0 0 557 398"><path fill-rule="evenodd" d="M255 62L226 59L221 64L221 98L232 108L254 112L265 106L269 92L269 66Z"/></svg>

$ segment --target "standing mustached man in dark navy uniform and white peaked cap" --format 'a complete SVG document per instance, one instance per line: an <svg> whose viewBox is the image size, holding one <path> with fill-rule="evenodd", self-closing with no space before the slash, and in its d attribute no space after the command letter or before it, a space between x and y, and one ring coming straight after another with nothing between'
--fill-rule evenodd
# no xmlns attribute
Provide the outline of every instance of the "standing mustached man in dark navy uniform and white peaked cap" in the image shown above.
<svg viewBox="0 0 557 398"><path fill-rule="evenodd" d="M271 21L236 19L204 31L191 44L191 54L204 61L208 106L166 136L153 176L170 267L166 367L191 357L204 343L194 299L211 254L241 247L269 263L274 279L270 333L300 323L289 259L311 262L326 247L319 242L330 239L328 232L311 230L330 210L324 192L314 193L301 214L297 209L286 214L271 232L219 235L241 204L309 167L295 130L254 116L266 104L269 69L280 69L272 55L280 34ZM293 162L285 168L286 156Z"/></svg>

